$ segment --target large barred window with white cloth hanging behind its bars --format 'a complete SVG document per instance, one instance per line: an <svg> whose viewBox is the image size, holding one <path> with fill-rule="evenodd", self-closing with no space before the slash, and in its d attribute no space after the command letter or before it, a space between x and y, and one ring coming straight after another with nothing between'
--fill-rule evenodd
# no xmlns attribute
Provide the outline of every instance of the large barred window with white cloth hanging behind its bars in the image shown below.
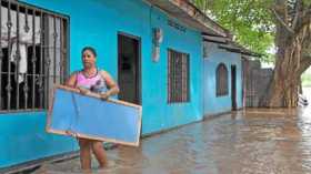
<svg viewBox="0 0 311 174"><path fill-rule="evenodd" d="M68 75L68 18L0 0L0 112L40 111Z"/></svg>

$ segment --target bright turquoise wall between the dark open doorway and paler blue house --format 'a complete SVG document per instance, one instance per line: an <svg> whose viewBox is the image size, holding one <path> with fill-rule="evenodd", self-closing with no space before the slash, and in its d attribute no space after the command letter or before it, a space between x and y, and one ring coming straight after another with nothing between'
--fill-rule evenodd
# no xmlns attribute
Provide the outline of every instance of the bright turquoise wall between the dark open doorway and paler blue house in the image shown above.
<svg viewBox="0 0 311 174"><path fill-rule="evenodd" d="M201 33L185 32L167 24L168 18L151 9L151 28L163 29L159 63L151 61L151 50L143 61L142 133L148 134L202 119L202 39ZM150 38L150 35L148 35ZM146 39L148 41L148 39ZM150 41L148 41L150 42ZM148 45L148 44L147 44ZM150 47L150 45L149 45ZM168 104L168 48L190 54L190 102ZM148 48L147 48L148 50Z"/></svg>

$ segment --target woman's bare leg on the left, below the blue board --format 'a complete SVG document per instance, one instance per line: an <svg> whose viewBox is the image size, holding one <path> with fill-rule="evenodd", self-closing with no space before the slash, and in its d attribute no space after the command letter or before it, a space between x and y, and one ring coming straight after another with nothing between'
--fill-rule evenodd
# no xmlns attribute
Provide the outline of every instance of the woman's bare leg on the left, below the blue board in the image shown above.
<svg viewBox="0 0 311 174"><path fill-rule="evenodd" d="M78 139L80 145L80 162L82 170L91 170L91 141Z"/></svg>

